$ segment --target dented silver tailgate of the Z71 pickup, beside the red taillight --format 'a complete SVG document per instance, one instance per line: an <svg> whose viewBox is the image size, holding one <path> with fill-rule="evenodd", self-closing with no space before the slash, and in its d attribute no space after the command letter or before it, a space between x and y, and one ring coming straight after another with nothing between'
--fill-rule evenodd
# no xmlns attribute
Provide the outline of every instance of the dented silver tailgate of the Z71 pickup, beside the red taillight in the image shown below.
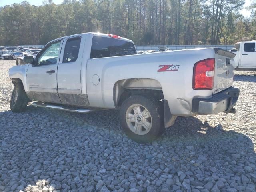
<svg viewBox="0 0 256 192"><path fill-rule="evenodd" d="M214 48L215 51L215 72L213 94L221 92L232 86L234 77L234 66L230 63L236 54Z"/></svg>

